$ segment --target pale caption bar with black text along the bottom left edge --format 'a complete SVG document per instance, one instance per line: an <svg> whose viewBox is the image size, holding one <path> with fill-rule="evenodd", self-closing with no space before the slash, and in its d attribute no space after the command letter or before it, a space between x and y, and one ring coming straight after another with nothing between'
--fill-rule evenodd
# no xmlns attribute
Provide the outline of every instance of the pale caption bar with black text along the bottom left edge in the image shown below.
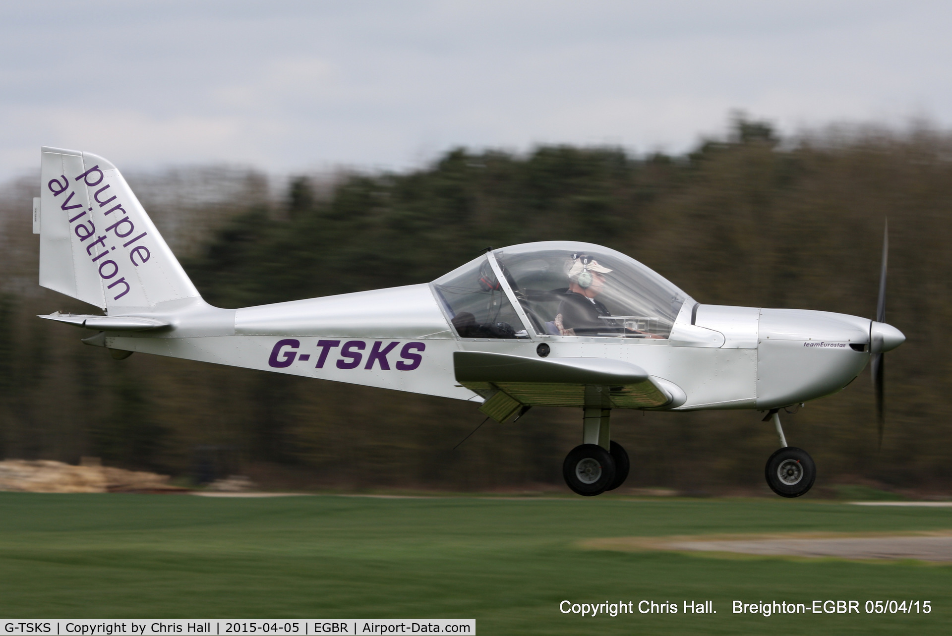
<svg viewBox="0 0 952 636"><path fill-rule="evenodd" d="M475 619L59 619L0 622L0 636L475 634Z"/></svg>

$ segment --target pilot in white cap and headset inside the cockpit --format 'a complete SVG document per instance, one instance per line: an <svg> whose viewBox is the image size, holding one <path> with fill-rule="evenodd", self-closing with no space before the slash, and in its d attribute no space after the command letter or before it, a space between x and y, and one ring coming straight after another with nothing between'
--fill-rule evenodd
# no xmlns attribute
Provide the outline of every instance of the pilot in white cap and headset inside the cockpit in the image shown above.
<svg viewBox="0 0 952 636"><path fill-rule="evenodd" d="M605 288L605 274L611 269L586 254L572 254L568 269L568 289L559 304L555 327L564 336L585 336L599 333L624 333L625 327L615 320L600 318L611 312L595 297Z"/></svg>

